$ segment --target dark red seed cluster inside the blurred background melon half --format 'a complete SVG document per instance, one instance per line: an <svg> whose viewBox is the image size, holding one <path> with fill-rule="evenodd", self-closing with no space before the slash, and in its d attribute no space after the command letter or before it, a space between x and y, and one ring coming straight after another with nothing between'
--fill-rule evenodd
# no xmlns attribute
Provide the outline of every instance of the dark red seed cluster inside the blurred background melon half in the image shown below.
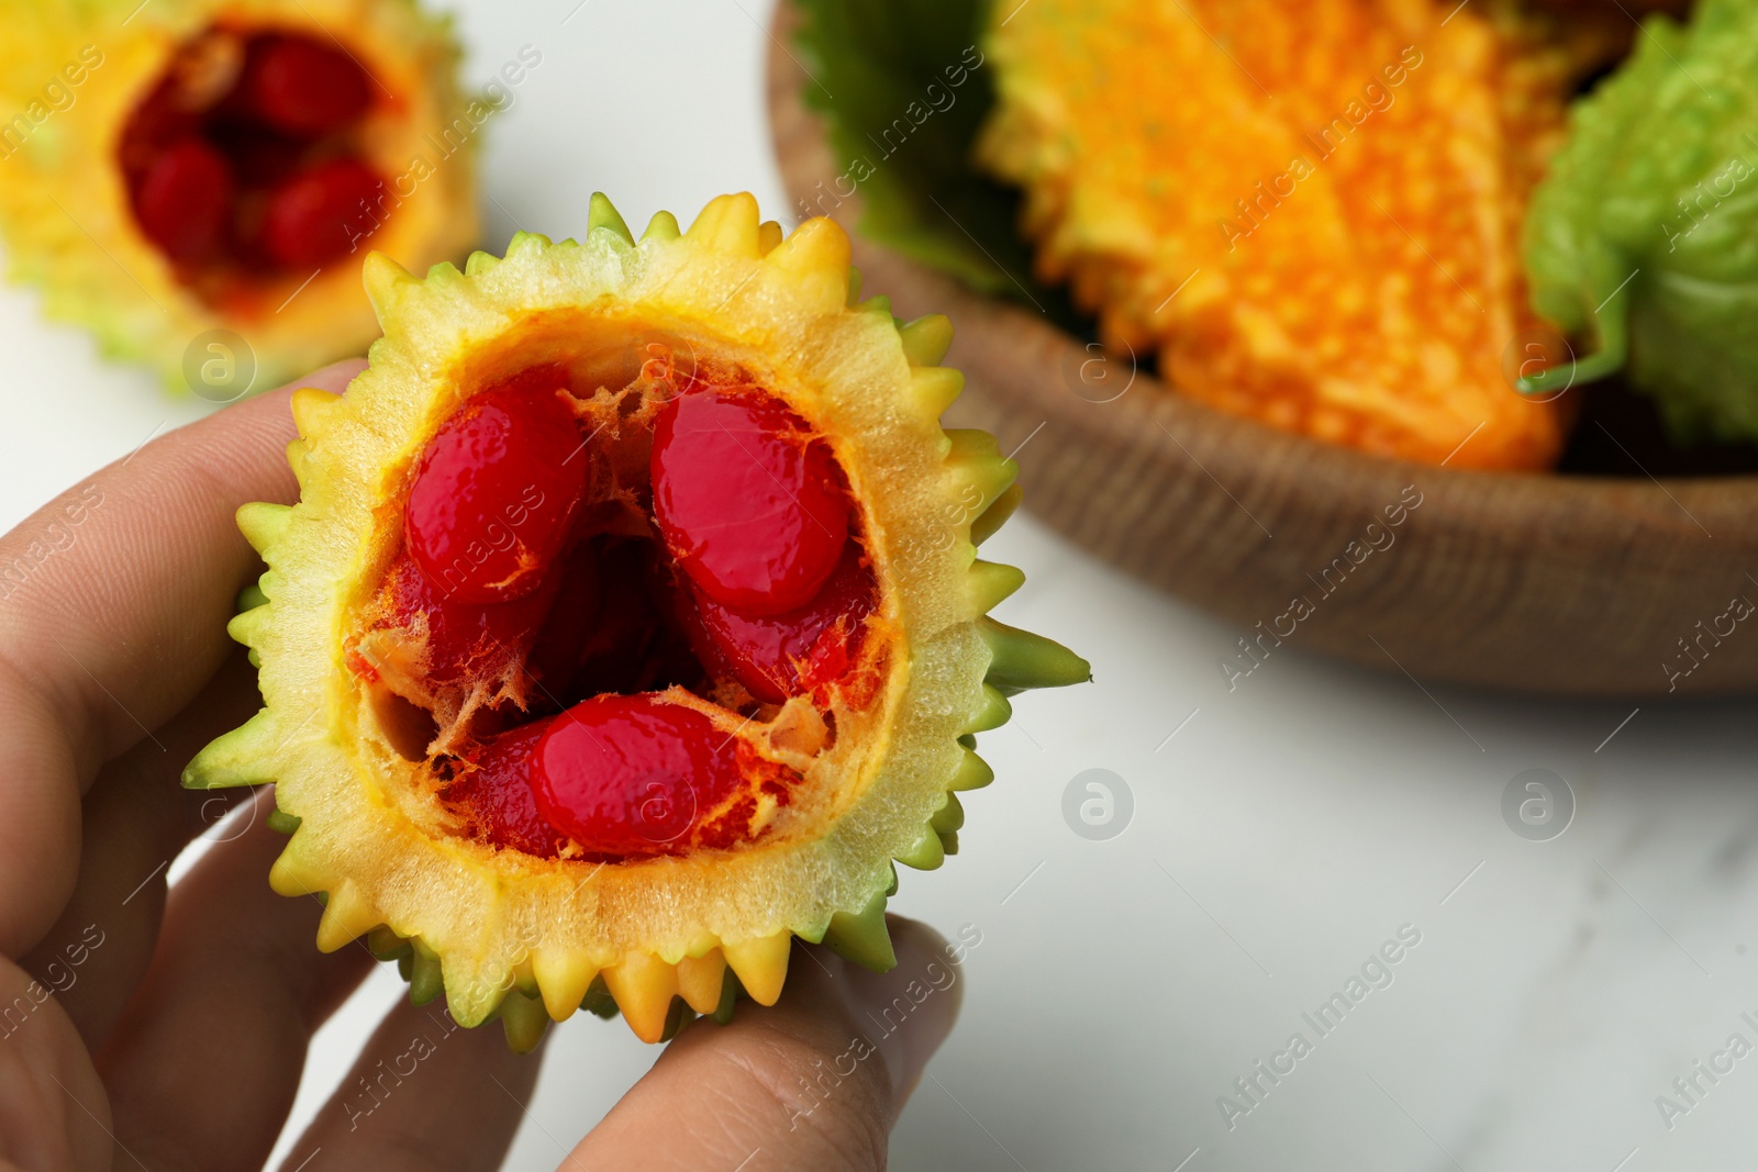
<svg viewBox="0 0 1758 1172"><path fill-rule="evenodd" d="M360 158L373 107L348 53L299 33L211 28L185 42L123 128L135 221L186 281L306 276L380 227Z"/></svg>

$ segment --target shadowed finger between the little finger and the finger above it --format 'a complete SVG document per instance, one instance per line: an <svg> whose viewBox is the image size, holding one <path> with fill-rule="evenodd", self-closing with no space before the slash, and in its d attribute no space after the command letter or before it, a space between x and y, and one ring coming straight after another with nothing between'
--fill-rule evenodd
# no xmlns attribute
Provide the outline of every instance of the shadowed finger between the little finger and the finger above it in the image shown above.
<svg viewBox="0 0 1758 1172"><path fill-rule="evenodd" d="M364 945L318 952L316 900L269 891L287 842L271 803L258 794L250 829L172 887L146 980L98 1054L118 1142L148 1168L262 1167L311 1033L374 963Z"/></svg>

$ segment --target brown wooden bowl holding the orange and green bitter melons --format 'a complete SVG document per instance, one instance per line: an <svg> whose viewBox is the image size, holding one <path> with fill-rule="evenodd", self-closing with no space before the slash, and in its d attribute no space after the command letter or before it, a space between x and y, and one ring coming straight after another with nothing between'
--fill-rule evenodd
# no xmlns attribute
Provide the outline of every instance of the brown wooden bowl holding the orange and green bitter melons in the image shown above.
<svg viewBox="0 0 1758 1172"><path fill-rule="evenodd" d="M777 12L775 151L809 200L839 167L781 47L789 4ZM948 423L1018 448L1025 508L1239 624L1248 647L1217 662L1231 687L1282 647L1536 692L1758 685L1758 476L1478 473L1315 443L1183 399L1129 355L863 241L858 193L832 214L868 293L905 320L951 316L946 360L967 390Z"/></svg>

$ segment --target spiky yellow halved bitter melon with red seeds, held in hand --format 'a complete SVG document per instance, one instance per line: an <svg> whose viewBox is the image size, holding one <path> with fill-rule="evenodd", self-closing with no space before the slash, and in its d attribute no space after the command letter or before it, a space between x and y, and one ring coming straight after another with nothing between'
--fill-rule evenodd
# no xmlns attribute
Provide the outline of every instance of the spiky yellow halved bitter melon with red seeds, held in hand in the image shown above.
<svg viewBox="0 0 1758 1172"><path fill-rule="evenodd" d="M366 279L371 367L294 397L299 504L239 511L265 706L185 784L274 782L320 947L373 933L520 1049L582 1003L647 1040L774 1003L795 937L890 966L974 734L1090 675L986 615L1018 469L941 429L946 318L749 195Z"/></svg>

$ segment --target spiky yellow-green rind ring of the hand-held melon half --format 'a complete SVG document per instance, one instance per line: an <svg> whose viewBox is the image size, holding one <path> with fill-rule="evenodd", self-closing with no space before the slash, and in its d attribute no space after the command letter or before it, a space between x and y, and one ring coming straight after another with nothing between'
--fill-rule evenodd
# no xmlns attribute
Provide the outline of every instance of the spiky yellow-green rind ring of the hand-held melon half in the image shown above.
<svg viewBox="0 0 1758 1172"><path fill-rule="evenodd" d="M974 733L1006 722L1023 687L1090 678L1072 652L986 617L1023 575L977 561L972 534L1018 503L1018 467L993 438L941 429L963 385L933 365L951 341L946 318L900 323L883 297L856 300L842 228L810 220L782 241L751 195L716 199L684 234L659 213L638 242L594 195L584 242L520 234L505 258L476 253L464 272L436 265L425 279L373 257L366 279L385 329L371 367L345 399L294 397L301 503L239 510L267 562L265 601L230 633L260 661L265 706L202 750L185 785L274 782L292 840L271 882L327 893L318 945L373 933L381 956L401 958L411 996L443 988L464 1024L499 1014L515 1049L582 1005L621 1010L652 1042L687 1014L724 1019L740 993L774 1003L795 937L891 966L893 861L930 870L956 847L955 791L993 778ZM835 445L867 510L898 654L870 722L849 724L823 771L807 773L840 805L810 835L608 866L427 833L418 810L374 785L343 666L348 597L376 573L374 534L397 524L404 474L480 355L506 337L650 329L756 371Z"/></svg>

